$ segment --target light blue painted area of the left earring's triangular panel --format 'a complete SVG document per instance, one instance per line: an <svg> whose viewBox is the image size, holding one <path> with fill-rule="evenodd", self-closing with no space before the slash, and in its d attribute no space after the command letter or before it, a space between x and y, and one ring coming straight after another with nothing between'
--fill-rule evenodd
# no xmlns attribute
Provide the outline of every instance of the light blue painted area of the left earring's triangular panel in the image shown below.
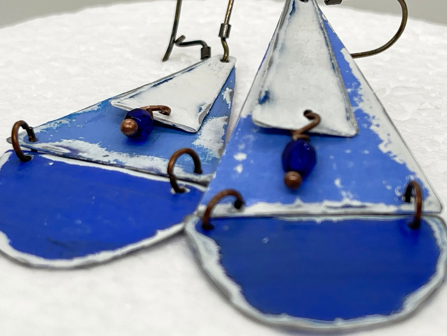
<svg viewBox="0 0 447 336"><path fill-rule="evenodd" d="M202 128L197 133L187 133L185 131L175 129L157 121L154 122L154 128L151 135L146 141L135 142L131 138L126 137L120 132L119 125L126 116L126 111L110 105L110 100L117 97L107 99L96 106L87 108L80 112L72 113L66 117L43 125L43 129L37 132L38 142L29 142L24 135L21 136L23 146L31 149L38 149L48 153L55 153L48 146L42 146L45 143L61 142L63 140L79 140L89 144L97 144L108 152L118 152L129 154L128 159L109 159L109 155L95 156L88 151L77 151L70 147L67 143L60 146L63 151L55 154L72 158L82 158L93 162L113 164L121 167L134 167L131 160L139 155L148 157L157 157L169 160L171 155L180 148L190 147L196 151L202 161L203 174L211 174L215 171L219 162L219 154L216 154L212 148L204 146L203 141L198 141L202 136L202 129L208 122L212 122L216 118L226 118L223 125L224 131L227 129L228 117L231 112L231 102L227 103L224 99L224 92L228 88L234 90L235 68L232 69L227 81L220 91L213 106L203 119ZM127 93L126 93L127 94ZM126 95L122 94L122 95ZM121 95L120 95L121 96ZM36 128L39 130L41 127ZM225 139L225 134L220 139L210 139L210 142ZM196 142L196 143L194 143ZM89 157L86 157L89 156ZM192 160L187 155L181 156L177 160L176 167L182 167L188 172L192 172ZM136 167L141 170L166 174L165 167L162 171L153 168Z"/></svg>

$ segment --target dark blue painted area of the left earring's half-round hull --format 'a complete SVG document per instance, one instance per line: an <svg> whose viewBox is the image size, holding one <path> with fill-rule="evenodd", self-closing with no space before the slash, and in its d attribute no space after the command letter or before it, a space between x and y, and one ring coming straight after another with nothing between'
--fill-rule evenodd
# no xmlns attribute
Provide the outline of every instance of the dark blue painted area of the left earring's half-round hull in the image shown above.
<svg viewBox="0 0 447 336"><path fill-rule="evenodd" d="M181 223L202 191L172 194L169 181L67 164L13 151L0 169L0 230L15 250L72 259L117 250ZM51 156L50 156L51 157ZM150 177L150 175L148 175Z"/></svg>

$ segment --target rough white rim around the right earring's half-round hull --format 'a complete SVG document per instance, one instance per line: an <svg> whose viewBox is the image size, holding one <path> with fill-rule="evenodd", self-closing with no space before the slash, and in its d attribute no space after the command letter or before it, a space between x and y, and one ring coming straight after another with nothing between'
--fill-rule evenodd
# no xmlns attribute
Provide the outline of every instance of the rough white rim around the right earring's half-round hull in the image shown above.
<svg viewBox="0 0 447 336"><path fill-rule="evenodd" d="M367 216L363 216L367 217ZM369 218L376 218L369 217ZM331 217L324 217L325 219L332 219ZM343 220L349 217L340 217ZM382 217L384 218L384 217ZM292 317L287 314L272 315L263 314L256 310L245 300L242 289L231 278L227 276L224 268L219 263L220 253L219 246L209 237L198 233L195 230L195 224L200 220L196 215L191 215L185 218L185 232L189 237L198 262L203 270L207 273L210 279L218 286L219 290L228 298L228 300L236 306L238 310L248 316L278 327L295 328L309 331L342 331L349 329L357 329L367 326L378 326L385 323L390 323L404 319L407 315L416 310L422 302L424 302L435 289L437 289L443 282L446 261L447 261L447 236L445 224L437 218L426 216L427 222L433 229L434 236L441 250L438 263L436 264L436 272L430 280L417 291L411 293L405 298L403 309L396 314L389 316L384 315L370 315L357 319L336 319L333 322L318 321L313 319L304 319ZM299 218L295 218L299 219ZM309 217L306 217L309 219Z"/></svg>

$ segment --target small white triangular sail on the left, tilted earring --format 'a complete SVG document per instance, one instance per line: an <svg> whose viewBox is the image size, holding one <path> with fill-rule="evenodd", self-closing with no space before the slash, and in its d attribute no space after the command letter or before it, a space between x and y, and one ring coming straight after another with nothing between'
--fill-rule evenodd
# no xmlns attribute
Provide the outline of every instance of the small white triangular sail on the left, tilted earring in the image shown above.
<svg viewBox="0 0 447 336"><path fill-rule="evenodd" d="M147 105L169 106L172 110L169 116L154 112L154 119L195 133L236 64L234 57L230 57L228 62L221 62L221 57L203 60L178 73L132 90L110 103L127 111Z"/></svg>

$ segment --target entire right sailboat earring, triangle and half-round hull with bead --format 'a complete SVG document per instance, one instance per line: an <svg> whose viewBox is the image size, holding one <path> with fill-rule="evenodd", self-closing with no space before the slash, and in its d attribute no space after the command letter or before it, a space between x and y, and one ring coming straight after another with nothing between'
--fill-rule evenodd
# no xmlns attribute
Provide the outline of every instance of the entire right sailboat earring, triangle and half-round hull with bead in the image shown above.
<svg viewBox="0 0 447 336"><path fill-rule="evenodd" d="M441 209L316 1L287 0L215 177L186 219L207 276L269 325L395 321L443 281Z"/></svg>

